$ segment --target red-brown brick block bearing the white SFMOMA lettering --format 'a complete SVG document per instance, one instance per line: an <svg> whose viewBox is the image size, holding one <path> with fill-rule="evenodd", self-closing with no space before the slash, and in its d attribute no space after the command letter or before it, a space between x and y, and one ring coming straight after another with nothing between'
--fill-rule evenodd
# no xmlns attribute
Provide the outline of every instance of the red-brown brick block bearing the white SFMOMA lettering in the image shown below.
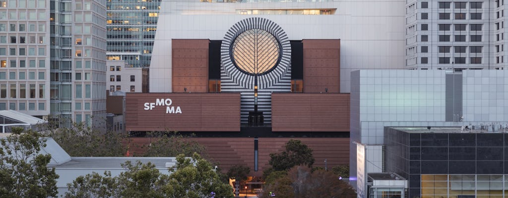
<svg viewBox="0 0 508 198"><path fill-rule="evenodd" d="M166 98L182 113L166 113L164 105L144 110ZM240 131L239 93L127 93L125 106L127 131Z"/></svg>

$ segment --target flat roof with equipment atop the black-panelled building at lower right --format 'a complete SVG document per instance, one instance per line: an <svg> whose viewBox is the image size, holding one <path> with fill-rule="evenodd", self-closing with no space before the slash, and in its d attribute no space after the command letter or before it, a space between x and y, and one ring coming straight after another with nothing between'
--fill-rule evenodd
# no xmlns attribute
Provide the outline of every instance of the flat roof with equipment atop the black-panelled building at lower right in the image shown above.
<svg viewBox="0 0 508 198"><path fill-rule="evenodd" d="M481 125L465 127L390 127L406 133L507 133L506 126Z"/></svg>

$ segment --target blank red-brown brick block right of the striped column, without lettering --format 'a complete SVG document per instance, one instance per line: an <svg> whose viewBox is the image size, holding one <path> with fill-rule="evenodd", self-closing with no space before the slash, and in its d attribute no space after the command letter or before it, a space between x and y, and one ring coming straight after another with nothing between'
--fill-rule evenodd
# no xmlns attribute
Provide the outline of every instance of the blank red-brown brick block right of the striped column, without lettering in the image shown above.
<svg viewBox="0 0 508 198"><path fill-rule="evenodd" d="M273 132L348 132L350 94L272 94Z"/></svg>

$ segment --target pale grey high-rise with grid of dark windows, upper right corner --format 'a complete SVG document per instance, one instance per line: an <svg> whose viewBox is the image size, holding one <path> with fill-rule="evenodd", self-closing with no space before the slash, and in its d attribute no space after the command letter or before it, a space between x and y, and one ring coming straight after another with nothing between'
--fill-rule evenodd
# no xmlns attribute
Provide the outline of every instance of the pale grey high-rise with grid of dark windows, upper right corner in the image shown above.
<svg viewBox="0 0 508 198"><path fill-rule="evenodd" d="M408 1L406 67L507 69L504 1Z"/></svg>

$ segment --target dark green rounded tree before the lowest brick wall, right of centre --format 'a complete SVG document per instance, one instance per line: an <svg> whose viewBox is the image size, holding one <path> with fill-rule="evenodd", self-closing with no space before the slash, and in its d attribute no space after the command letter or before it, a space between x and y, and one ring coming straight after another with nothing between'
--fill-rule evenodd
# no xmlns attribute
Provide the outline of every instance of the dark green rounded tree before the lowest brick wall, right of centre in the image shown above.
<svg viewBox="0 0 508 198"><path fill-rule="evenodd" d="M282 153L270 153L270 165L275 171L285 171L297 165L314 164L312 149L303 144L300 140L290 140L285 143L285 151Z"/></svg>

